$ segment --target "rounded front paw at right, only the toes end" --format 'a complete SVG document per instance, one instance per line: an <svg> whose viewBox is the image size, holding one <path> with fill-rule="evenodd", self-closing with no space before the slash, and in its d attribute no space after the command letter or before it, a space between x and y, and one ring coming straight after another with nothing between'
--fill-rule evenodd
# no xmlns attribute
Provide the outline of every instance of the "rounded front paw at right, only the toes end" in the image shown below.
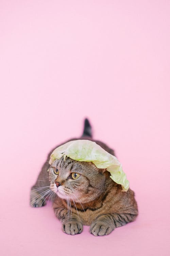
<svg viewBox="0 0 170 256"><path fill-rule="evenodd" d="M90 233L94 236L105 236L112 232L113 228L111 228L107 223L102 221L96 221L91 224Z"/></svg>

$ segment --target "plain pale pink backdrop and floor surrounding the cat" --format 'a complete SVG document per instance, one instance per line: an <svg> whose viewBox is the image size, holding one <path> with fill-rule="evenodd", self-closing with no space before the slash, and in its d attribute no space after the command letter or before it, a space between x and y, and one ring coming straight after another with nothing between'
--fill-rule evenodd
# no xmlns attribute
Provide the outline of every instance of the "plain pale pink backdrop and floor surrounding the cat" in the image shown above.
<svg viewBox="0 0 170 256"><path fill-rule="evenodd" d="M170 255L170 1L0 1L1 255ZM29 207L47 153L82 133L113 147L139 206L109 236Z"/></svg>

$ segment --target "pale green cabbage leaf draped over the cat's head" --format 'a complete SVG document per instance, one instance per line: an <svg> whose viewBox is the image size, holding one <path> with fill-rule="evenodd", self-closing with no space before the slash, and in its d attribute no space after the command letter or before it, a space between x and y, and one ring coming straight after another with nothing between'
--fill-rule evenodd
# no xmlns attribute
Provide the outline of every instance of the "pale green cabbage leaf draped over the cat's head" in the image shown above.
<svg viewBox="0 0 170 256"><path fill-rule="evenodd" d="M64 159L67 156L77 161L92 162L99 169L106 168L111 173L110 178L120 184L123 191L129 189L129 181L126 179L121 163L94 141L74 140L57 147L50 156L49 164L51 165L55 159L60 159L62 156Z"/></svg>

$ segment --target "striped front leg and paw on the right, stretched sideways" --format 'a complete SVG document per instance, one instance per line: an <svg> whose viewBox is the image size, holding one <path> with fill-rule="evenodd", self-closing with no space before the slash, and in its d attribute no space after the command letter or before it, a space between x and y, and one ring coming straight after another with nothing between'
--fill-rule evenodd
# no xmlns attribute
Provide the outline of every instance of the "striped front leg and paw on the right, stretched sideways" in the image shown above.
<svg viewBox="0 0 170 256"><path fill-rule="evenodd" d="M94 236L110 234L115 228L126 225L136 218L136 214L129 213L108 213L98 216L90 226L90 233Z"/></svg>

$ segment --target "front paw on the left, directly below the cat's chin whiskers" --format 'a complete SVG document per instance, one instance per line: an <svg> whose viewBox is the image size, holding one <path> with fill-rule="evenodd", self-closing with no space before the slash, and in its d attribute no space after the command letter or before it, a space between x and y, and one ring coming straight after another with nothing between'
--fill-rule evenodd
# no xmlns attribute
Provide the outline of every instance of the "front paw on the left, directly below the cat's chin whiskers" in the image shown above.
<svg viewBox="0 0 170 256"><path fill-rule="evenodd" d="M80 221L68 221L62 224L62 230L66 234L80 234L83 231L83 224Z"/></svg>

